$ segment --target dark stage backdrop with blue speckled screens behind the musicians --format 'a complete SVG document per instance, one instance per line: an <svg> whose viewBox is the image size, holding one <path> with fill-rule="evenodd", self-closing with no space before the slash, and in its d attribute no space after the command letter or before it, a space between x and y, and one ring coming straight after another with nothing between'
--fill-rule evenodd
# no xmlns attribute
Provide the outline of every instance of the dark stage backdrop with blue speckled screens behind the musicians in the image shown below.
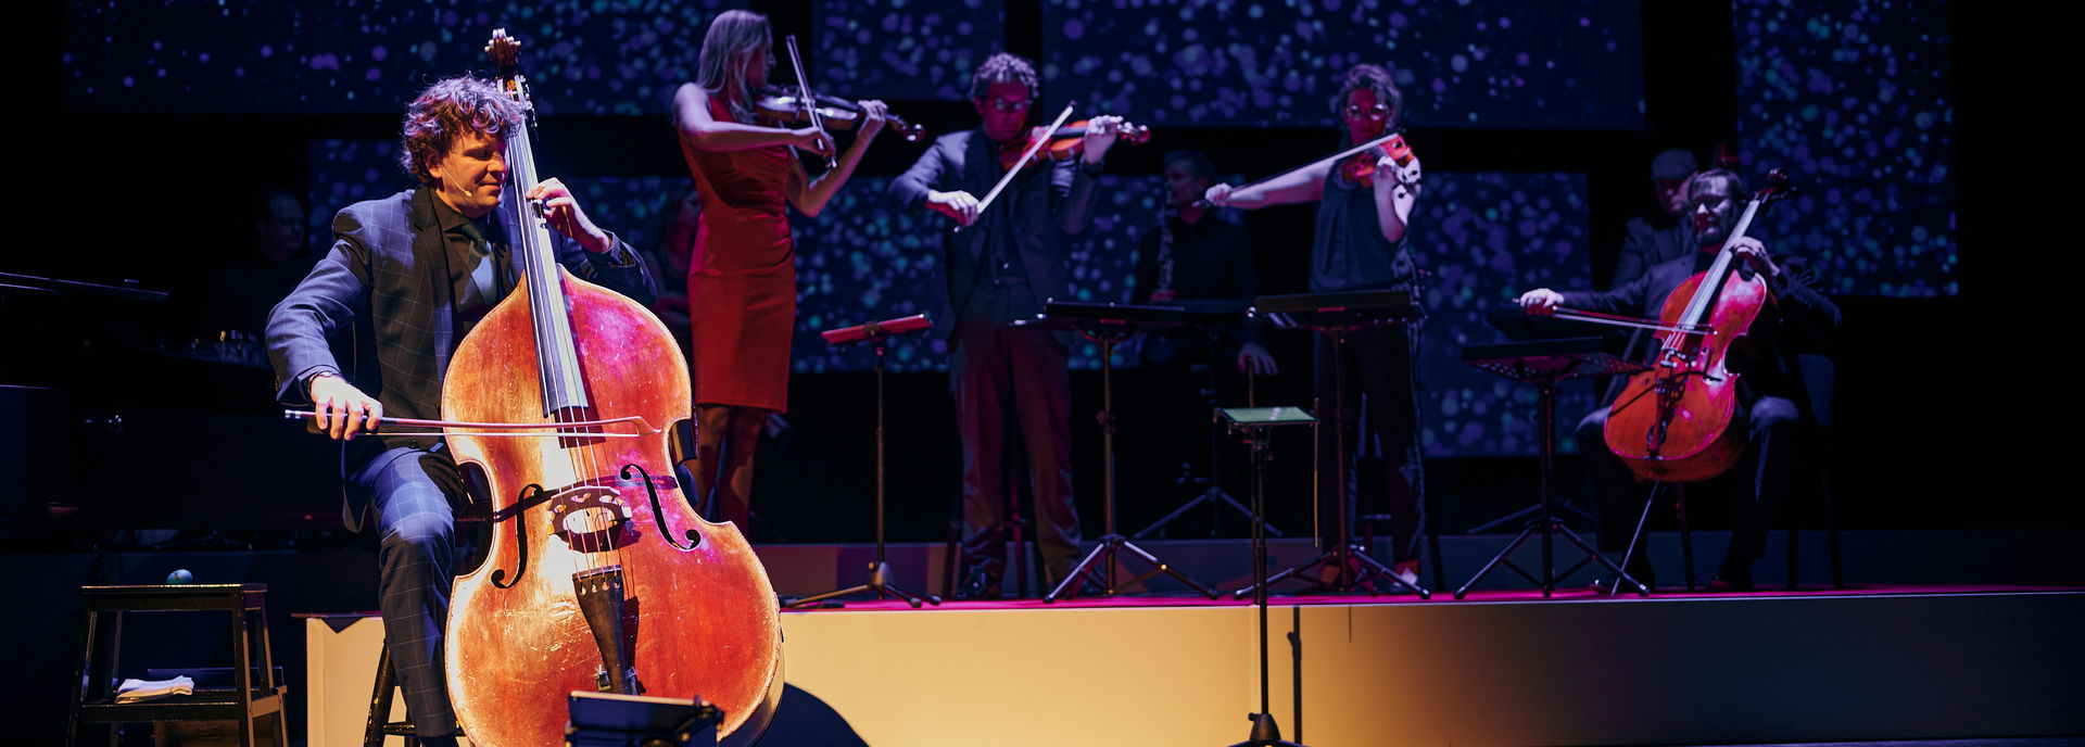
<svg viewBox="0 0 2085 747"><path fill-rule="evenodd" d="M58 121L52 134L25 140L63 154L52 196L42 200L50 215L40 217L58 225L63 240L19 244L0 271L136 284L171 296L0 292L4 547L373 547L369 536L338 530L336 451L269 417L271 374L252 363L259 348L248 334L296 271L252 259L261 198L269 190L294 194L311 250L323 250L334 211L409 186L392 156L404 100L425 81L486 67L480 46L505 25L528 44L523 63L544 109L540 171L571 182L596 221L651 252L655 269L684 265L686 236L676 225L688 221L692 182L665 104L692 77L707 21L728 6L742 4L65 4ZM2039 309L2031 300L2039 288L2029 288L2041 280L1997 269L1993 259L2020 244L2002 232L2022 221L1991 196L2002 182L1991 154L2000 144L1987 131L1979 131L1987 134L1981 144L1962 138L1954 121L1960 96L1993 96L1960 73L1979 67L1960 65L1958 4L751 6L771 17L778 42L788 33L805 42L815 83L886 98L934 134L976 123L963 100L967 75L995 50L1042 67L1036 117L1078 102L1086 115L1113 111L1153 125L1151 144L1109 156L1103 215L1074 248L1082 300L1124 300L1134 290L1130 267L1157 217L1163 152L1209 152L1234 179L1309 161L1339 140L1326 106L1332 75L1359 61L1391 65L1407 96L1409 142L1428 173L1414 242L1432 273L1424 438L1443 532L1532 503L1535 392L1457 363L1462 344L1497 340L1485 311L1532 286L1603 286L1624 221L1653 209L1649 156L1676 146L1706 159L1724 142L1737 146L1753 182L1768 167L1797 175L1801 196L1776 207L1758 234L1776 255L1810 261L1845 311L1829 440L1839 526L2085 524L2075 501L2045 486L2045 465L2064 463L2056 442L2035 438L2050 428L2052 407L2008 399L2047 386L2025 380L1989 392L1993 371L2014 365L2004 355L2029 351L1995 342L2000 313ZM774 75L786 77L786 63ZM828 215L796 217L792 411L788 430L763 444L755 540L869 540L867 353L828 351L815 332L922 311L922 288L934 273L930 246L945 225L897 213L880 194L922 148L882 138ZM1987 192L1958 188L1958 163L1968 163L1972 186ZM1266 292L1305 290L1307 207L1224 217L1251 230ZM682 280L661 275L673 294ZM686 323L673 300L659 311ZM1309 340L1278 332L1272 346L1282 374L1261 382L1261 403L1305 405ZM1072 380L1078 505L1086 534L1097 536L1101 455L1090 413L1101 386L1095 353L1080 353ZM940 540L959 478L942 351L907 340L892 369L890 534ZM1128 403L1120 515L1134 530L1193 492L1174 482L1176 461L1205 447L1163 430L1197 417L1161 407L1191 384L1132 367L1118 386ZM1566 392L1560 417L1574 421L1591 405L1589 386L1580 386ZM1284 528L1309 524L1305 447L1278 444L1270 474L1274 522ZM1562 469L1562 492L1576 492L1574 459ZM1243 495L1241 484L1232 488ZM1718 528L1716 499L1701 501L1710 505L1695 509L1695 526ZM1814 501L1793 509L1801 522L1818 522ZM1658 511L1651 522L1666 528L1670 515ZM181 532L150 532L161 528ZM1216 530L1241 536L1243 522L1226 517ZM1211 517L1195 513L1172 536L1209 532ZM306 553L298 555L319 557ZM242 563L227 559L211 572L190 561L208 580L256 578ZM73 565L92 580L138 580L102 561ZM63 576L79 576L79 568ZM375 607L371 578L306 578L302 586L329 593L286 595L277 613ZM63 641L69 620L56 616L40 632ZM279 626L277 651L296 651L298 636Z"/></svg>

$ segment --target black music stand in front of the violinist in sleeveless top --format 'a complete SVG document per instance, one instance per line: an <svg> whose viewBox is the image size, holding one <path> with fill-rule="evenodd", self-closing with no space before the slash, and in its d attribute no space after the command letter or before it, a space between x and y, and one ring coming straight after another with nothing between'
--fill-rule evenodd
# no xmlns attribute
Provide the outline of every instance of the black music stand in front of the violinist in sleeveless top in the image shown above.
<svg viewBox="0 0 2085 747"><path fill-rule="evenodd" d="M1347 428L1353 419L1345 407L1347 392L1347 334L1359 328L1380 326L1380 323L1403 323L1420 317L1420 309L1412 303L1412 294L1403 290L1366 290L1366 292L1322 292L1322 294L1286 294L1286 296L1259 296L1253 303L1253 313L1264 315L1278 328L1289 330L1311 330L1324 334L1332 342L1332 463L1341 472L1332 476L1332 501L1339 501L1339 522L1332 522L1332 547L1301 561L1289 565L1274 576L1261 576L1253 586L1238 588L1232 599L1245 599L1245 595L1259 591L1261 586L1278 584L1291 576L1303 574L1311 568L1332 565L1339 568L1339 580L1332 591L1353 593L1368 591L1376 593L1376 578L1389 580L1420 599L1432 593L1426 586L1407 582L1397 576L1389 565L1368 555L1366 549L1353 543L1353 526L1349 515L1353 513L1347 503ZM1324 411L1324 403L1318 407ZM1322 449L1322 444L1320 444ZM1320 459L1311 459L1316 465ZM1316 469L1316 467L1314 467ZM1318 480L1320 484L1324 480ZM1422 497L1424 501L1424 497ZM1434 551L1434 568L1441 565L1441 553Z"/></svg>

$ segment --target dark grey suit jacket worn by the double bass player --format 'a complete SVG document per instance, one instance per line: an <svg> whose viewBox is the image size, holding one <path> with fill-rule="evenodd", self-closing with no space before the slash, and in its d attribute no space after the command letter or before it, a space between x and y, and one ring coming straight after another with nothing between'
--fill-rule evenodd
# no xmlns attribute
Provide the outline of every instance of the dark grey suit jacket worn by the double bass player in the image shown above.
<svg viewBox="0 0 2085 747"><path fill-rule="evenodd" d="M494 213L507 236L519 236L505 207ZM592 255L550 234L557 261L573 275L653 303L653 280L630 244ZM617 267L615 257L632 265ZM275 399L309 405L306 382L338 374L384 403L388 417L440 417L442 376L457 351L448 250L434 213L434 192L404 190L354 202L334 215L334 246L304 282L269 313L267 348L275 365ZM344 355L336 355L344 353ZM340 365L346 359L348 365ZM357 474L377 455L432 449L436 436L377 436L348 442L342 472ZM346 490L344 517L359 528L369 497Z"/></svg>

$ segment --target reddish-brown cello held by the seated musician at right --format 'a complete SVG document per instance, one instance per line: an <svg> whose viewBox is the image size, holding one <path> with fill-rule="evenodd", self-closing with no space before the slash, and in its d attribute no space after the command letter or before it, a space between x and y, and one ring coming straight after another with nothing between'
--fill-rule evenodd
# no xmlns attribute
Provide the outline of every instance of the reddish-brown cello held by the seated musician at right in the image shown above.
<svg viewBox="0 0 2085 747"><path fill-rule="evenodd" d="M1630 374L1608 411L1605 440L1641 480L1701 482L1731 469L1745 453L1747 434L1731 428L1737 413L1739 374L1728 369L1731 344L1751 330L1772 303L1766 278L1739 273L1731 246L1745 238L1751 219L1789 194L1789 177L1768 173L1768 186L1745 202L1745 215L1716 250L1706 271L1683 280L1666 296L1658 321L1591 311L1555 309L1560 319L1658 330L1651 367Z"/></svg>

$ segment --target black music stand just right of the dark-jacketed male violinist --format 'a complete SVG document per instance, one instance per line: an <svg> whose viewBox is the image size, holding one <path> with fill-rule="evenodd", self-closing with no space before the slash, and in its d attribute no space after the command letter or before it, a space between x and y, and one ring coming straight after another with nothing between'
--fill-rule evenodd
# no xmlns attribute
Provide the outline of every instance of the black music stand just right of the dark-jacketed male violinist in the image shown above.
<svg viewBox="0 0 2085 747"><path fill-rule="evenodd" d="M1157 555L1151 555L1143 547L1130 543L1128 536L1115 532L1115 344L1128 340L1132 334L1151 330L1170 330L1186 323L1188 313L1176 307L1130 307L1130 305L1097 305L1097 303L1059 303L1047 300L1042 305L1042 315L1036 319L1015 321L1020 328L1028 330L1065 330L1078 332L1080 336L1101 344L1101 497L1107 532L1101 534L1101 545L1097 545L1086 557L1072 565L1072 572L1057 580L1057 588L1042 595L1042 603L1053 603L1057 599L1078 597L1078 582L1088 574L1099 570L1101 593L1115 595L1124 586L1145 582L1157 574L1168 574L1174 580L1195 588L1197 593L1216 599L1216 588L1203 586L1182 574L1180 570L1168 565ZM1115 584L1115 555L1118 553L1136 555L1153 570L1130 578L1128 582Z"/></svg>

